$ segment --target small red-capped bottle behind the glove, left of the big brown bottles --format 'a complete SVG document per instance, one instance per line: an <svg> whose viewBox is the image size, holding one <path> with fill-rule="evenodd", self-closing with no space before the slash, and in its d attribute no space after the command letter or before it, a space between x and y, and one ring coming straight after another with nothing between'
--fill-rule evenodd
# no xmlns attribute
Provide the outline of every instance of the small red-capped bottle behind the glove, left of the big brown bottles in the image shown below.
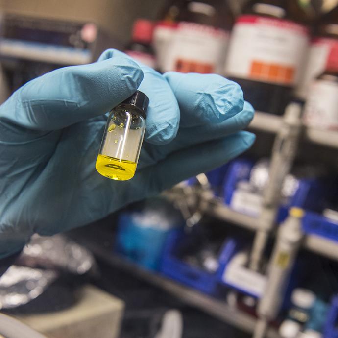
<svg viewBox="0 0 338 338"><path fill-rule="evenodd" d="M131 42L125 48L126 54L151 68L156 67L155 54L151 47L153 28L154 24L149 20L136 20L133 26Z"/></svg>

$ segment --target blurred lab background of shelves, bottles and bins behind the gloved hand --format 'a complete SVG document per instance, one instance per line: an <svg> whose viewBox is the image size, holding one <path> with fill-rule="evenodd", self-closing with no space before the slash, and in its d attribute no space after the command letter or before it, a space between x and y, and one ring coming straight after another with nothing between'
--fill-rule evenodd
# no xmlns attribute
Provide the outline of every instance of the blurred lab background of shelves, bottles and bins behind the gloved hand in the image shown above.
<svg viewBox="0 0 338 338"><path fill-rule="evenodd" d="M0 337L338 337L338 1L1 0L0 11L0 102L117 48L159 72L238 82L257 135L157 198L34 237L0 278Z"/></svg>

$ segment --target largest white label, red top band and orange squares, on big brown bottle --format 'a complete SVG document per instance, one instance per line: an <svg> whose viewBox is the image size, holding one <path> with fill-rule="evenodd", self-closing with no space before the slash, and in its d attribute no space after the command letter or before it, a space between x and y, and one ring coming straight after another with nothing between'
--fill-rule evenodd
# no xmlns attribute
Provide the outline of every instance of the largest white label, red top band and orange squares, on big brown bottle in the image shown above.
<svg viewBox="0 0 338 338"><path fill-rule="evenodd" d="M308 48L306 27L281 19L242 15L236 22L225 74L293 86Z"/></svg>

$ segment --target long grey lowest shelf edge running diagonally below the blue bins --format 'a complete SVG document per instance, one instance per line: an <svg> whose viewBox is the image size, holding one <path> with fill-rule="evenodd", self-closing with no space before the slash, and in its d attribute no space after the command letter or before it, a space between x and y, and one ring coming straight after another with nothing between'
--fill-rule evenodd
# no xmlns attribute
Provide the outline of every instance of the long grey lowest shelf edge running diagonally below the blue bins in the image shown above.
<svg viewBox="0 0 338 338"><path fill-rule="evenodd" d="M166 290L185 303L213 315L243 331L248 333L253 332L256 325L256 318L249 314L245 314L242 311L227 305L224 301L217 300L216 298L205 295L197 290L188 288L156 272L145 270L144 268L117 256L113 252L109 252L106 248L102 247L102 245L98 245L92 241L86 241L85 243L83 241L80 242L85 244L94 255L105 261L107 264L118 267L162 290ZM266 337L280 338L278 332L272 328L269 329Z"/></svg>

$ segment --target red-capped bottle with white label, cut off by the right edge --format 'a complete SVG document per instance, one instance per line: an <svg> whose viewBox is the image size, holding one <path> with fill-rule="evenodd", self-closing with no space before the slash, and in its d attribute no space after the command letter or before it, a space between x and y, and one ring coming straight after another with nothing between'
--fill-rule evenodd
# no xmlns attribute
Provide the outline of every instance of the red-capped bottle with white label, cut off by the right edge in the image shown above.
<svg viewBox="0 0 338 338"><path fill-rule="evenodd" d="M338 130L338 44L331 46L325 68L310 85L303 122L316 129Z"/></svg>

